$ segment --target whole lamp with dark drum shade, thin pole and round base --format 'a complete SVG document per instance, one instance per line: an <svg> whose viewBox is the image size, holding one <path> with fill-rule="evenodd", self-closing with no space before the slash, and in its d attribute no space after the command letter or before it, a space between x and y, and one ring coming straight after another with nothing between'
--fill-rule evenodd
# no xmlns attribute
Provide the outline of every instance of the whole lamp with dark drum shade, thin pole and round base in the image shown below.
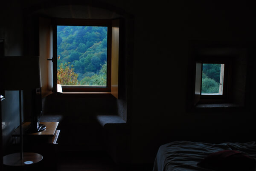
<svg viewBox="0 0 256 171"><path fill-rule="evenodd" d="M5 165L28 165L43 159L41 154L23 153L21 90L41 88L41 73L38 56L1 57L1 87L3 90L19 90L20 103L20 154L3 157Z"/></svg>

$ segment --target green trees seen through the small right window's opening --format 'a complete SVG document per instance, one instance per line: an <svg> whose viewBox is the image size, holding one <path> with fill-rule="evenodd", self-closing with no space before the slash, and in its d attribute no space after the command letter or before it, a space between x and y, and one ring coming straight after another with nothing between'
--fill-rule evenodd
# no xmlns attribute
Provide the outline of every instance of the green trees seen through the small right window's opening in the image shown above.
<svg viewBox="0 0 256 171"><path fill-rule="evenodd" d="M201 94L222 94L223 74L224 64L203 63Z"/></svg>

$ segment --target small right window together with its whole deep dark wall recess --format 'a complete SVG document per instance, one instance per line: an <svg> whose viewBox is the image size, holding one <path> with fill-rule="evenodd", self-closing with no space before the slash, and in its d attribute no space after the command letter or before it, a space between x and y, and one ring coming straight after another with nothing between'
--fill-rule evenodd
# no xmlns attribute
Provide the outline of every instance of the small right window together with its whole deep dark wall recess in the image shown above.
<svg viewBox="0 0 256 171"><path fill-rule="evenodd" d="M190 42L189 110L246 107L248 46L246 42Z"/></svg>

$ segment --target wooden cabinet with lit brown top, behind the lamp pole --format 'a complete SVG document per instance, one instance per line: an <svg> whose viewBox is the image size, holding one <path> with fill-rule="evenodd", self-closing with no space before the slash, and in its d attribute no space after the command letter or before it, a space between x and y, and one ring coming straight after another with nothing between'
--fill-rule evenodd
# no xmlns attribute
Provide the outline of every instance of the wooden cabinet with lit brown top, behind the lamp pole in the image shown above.
<svg viewBox="0 0 256 171"><path fill-rule="evenodd" d="M46 125L46 129L36 133L26 133L26 130L28 130L29 128L30 122L23 123L22 125L23 151L25 151L26 154L29 154L29 152L33 152L33 153L41 154L43 156L43 159L38 157L39 160L42 160L41 162L38 162L38 165L40 166L36 165L36 167L40 168L39 169L40 171L46 171L46 170L57 171L57 160L56 160L57 153L56 152L57 152L57 146L58 146L57 140L60 133L60 130L58 130L57 127L59 123L58 122L40 122L40 124ZM15 138L15 144L13 147L15 147L15 149L17 149L18 151L19 150L18 143L20 143L19 141L20 127L14 131L14 133L12 134L12 137ZM18 155L18 154L15 154L15 155ZM10 157L13 158L13 156L10 156ZM38 170L38 168L35 170Z"/></svg>

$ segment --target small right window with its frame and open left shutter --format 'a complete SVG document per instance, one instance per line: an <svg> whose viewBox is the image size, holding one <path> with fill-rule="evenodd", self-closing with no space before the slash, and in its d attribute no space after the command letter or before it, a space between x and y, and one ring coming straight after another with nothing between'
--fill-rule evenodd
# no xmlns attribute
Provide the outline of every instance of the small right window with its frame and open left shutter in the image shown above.
<svg viewBox="0 0 256 171"><path fill-rule="evenodd" d="M195 104L223 103L228 100L229 59L202 57L196 64Z"/></svg>

